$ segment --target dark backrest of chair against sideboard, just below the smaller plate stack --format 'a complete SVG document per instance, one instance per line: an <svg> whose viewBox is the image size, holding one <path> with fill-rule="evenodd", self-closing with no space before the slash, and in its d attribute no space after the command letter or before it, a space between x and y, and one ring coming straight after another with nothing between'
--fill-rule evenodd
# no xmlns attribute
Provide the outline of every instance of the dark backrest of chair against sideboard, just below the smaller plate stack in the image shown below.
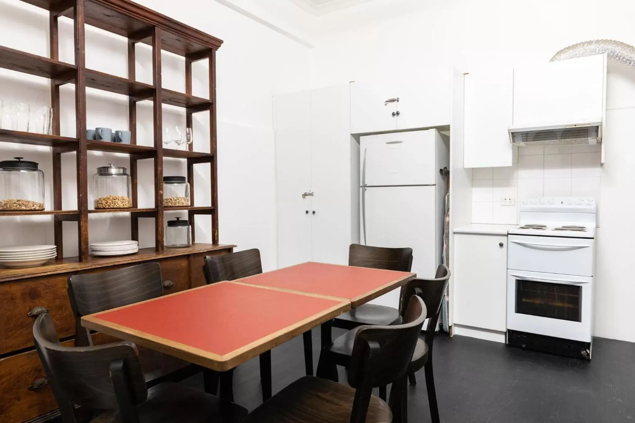
<svg viewBox="0 0 635 423"><path fill-rule="evenodd" d="M81 316L127 306L163 293L159 263L69 277L70 306L75 315L76 346L91 345L90 333L81 327Z"/></svg>

